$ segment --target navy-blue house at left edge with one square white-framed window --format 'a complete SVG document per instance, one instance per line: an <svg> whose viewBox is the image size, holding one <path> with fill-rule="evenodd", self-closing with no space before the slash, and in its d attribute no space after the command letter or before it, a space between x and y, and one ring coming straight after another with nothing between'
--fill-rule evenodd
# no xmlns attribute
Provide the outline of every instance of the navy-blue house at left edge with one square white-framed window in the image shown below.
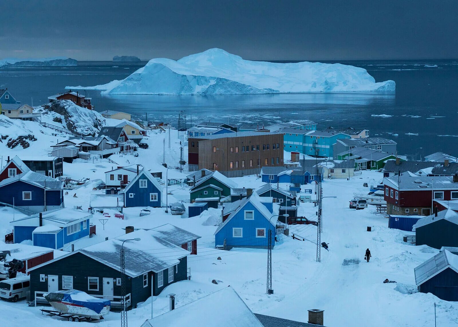
<svg viewBox="0 0 458 327"><path fill-rule="evenodd" d="M0 182L0 202L25 214L64 206L64 182L31 170Z"/></svg>

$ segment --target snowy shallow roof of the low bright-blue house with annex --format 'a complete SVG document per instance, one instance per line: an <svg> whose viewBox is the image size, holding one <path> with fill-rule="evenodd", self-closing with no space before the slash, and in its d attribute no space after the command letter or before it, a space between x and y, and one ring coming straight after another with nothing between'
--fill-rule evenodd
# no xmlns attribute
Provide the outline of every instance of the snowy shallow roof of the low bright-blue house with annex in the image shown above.
<svg viewBox="0 0 458 327"><path fill-rule="evenodd" d="M12 226L39 226L39 213L16 219L10 222ZM55 210L49 210L42 213L43 224L52 224L58 227L65 227L79 221L87 220L93 215L91 213L84 212L82 210L76 210L72 208L60 208Z"/></svg>

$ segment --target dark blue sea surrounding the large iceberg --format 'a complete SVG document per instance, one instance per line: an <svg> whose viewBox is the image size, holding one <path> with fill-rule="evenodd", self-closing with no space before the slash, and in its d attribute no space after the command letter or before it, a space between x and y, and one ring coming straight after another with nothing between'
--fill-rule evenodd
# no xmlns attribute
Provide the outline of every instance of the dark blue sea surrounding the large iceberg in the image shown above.
<svg viewBox="0 0 458 327"><path fill-rule="evenodd" d="M278 62L278 61L277 61ZM290 62L290 61L280 61ZM332 61L322 61L333 63ZM187 124L202 120L259 123L314 120L328 126L365 128L371 136L398 142L410 159L441 151L458 157L458 60L339 61L366 69L376 82L393 80L395 93L291 93L250 95L102 95L91 97L95 110L119 110L145 120ZM0 89L38 106L65 86L94 86L120 80L146 62L79 61L76 67L0 70ZM431 67L432 66L432 67Z"/></svg>

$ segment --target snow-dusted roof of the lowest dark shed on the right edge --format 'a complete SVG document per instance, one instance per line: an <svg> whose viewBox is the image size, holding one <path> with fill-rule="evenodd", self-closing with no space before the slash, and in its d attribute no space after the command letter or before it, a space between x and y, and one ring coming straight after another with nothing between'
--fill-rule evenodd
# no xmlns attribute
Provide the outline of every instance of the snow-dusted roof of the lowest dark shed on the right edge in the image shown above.
<svg viewBox="0 0 458 327"><path fill-rule="evenodd" d="M437 274L442 273L448 267L458 273L458 256L448 250L437 253L420 266L414 268L415 284L419 286L425 283Z"/></svg>

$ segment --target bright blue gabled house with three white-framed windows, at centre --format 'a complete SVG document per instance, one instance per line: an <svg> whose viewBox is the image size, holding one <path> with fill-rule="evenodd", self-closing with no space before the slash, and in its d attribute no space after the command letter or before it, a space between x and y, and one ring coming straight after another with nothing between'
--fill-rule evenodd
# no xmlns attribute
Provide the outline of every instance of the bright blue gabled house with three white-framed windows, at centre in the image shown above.
<svg viewBox="0 0 458 327"><path fill-rule="evenodd" d="M239 200L238 204L238 207L216 230L215 247L222 247L225 240L226 249L233 247L266 248L269 230L272 231L272 244L274 245L275 225L278 219L275 216L278 216L278 205L273 206L269 201L265 206L257 194Z"/></svg>

